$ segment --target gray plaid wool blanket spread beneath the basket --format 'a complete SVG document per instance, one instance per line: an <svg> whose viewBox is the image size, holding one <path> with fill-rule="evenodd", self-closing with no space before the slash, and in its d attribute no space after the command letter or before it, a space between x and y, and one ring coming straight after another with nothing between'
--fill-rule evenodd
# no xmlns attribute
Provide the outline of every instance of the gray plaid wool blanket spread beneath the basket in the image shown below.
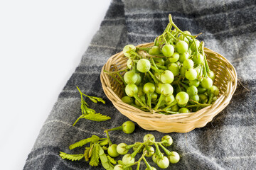
<svg viewBox="0 0 256 170"><path fill-rule="evenodd" d="M102 91L101 68L124 45L154 41L169 22L169 13L181 30L202 32L198 38L206 47L225 56L235 66L240 80L228 107L206 127L169 134L174 139L171 150L181 154L181 161L169 166L170 169L256 169L255 4L255 0L113 0L100 30L41 128L24 169L103 169L91 167L85 161L63 160L59 152L83 153L83 147L70 151L68 146L92 135L105 137L103 128L114 128L128 120ZM106 104L88 103L90 108L112 119L101 123L82 119L73 127L81 114L76 86L85 94L104 98ZM146 133L159 140L164 136L137 126L133 135L111 132L110 137L117 144L132 144L142 141Z"/></svg>

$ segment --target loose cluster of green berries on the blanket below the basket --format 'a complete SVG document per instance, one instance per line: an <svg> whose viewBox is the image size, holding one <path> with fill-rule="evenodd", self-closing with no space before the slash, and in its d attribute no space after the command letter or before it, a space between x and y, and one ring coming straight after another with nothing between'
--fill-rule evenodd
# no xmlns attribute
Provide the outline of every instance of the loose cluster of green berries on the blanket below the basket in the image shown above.
<svg viewBox="0 0 256 170"><path fill-rule="evenodd" d="M146 169L154 170L156 169L154 166L151 166L149 162L146 161L146 157L151 157L154 163L159 166L161 169L166 169L169 167L169 164L176 164L180 156L177 152L170 152L166 147L171 146L173 140L171 136L165 135L161 138L161 142L156 142L154 135L147 134L143 138L143 142L135 142L133 145L127 145L125 143L120 143L117 145L117 153L123 154L122 161L118 161L118 164L114 166L114 170L128 170L132 169L132 166L137 165L137 169L143 160L146 164ZM152 146L155 146L152 147ZM164 153L159 149L163 149ZM129 154L129 149L132 149L132 154ZM139 158L137 162L135 162L135 156L138 153L142 153L142 156Z"/></svg>

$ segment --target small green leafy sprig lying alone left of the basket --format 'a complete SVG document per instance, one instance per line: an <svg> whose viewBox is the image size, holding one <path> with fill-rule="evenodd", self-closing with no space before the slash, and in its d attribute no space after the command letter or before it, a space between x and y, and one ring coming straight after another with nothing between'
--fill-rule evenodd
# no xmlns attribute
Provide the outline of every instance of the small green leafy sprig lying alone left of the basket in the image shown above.
<svg viewBox="0 0 256 170"><path fill-rule="evenodd" d="M97 103L97 102L105 103L105 101L102 98L95 97L95 96L87 96L86 94L83 94L80 91L78 86L77 86L77 89L80 92L80 96L81 96L81 107L80 108L81 108L82 115L80 115L80 117L77 120L75 120L75 123L73 124L73 126L76 123L78 123L78 120L80 120L81 118L85 118L87 120L93 120L93 121L97 121L97 122L102 122L102 121L111 119L110 116L102 115L101 113L96 113L96 111L94 109L88 108L89 105L83 99L83 96L90 98L90 100L94 103Z"/></svg>

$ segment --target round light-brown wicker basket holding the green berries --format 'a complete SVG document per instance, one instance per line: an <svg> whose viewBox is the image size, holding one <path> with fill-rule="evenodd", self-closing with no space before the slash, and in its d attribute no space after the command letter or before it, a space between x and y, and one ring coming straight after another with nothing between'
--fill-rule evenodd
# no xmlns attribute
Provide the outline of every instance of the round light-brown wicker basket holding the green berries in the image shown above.
<svg viewBox="0 0 256 170"><path fill-rule="evenodd" d="M137 47L151 47L154 43L146 43ZM235 68L225 57L205 48L210 70L215 73L215 86L220 89L220 94L217 101L213 105L201 109L195 113L181 113L173 115L164 115L159 113L149 113L139 110L127 103L124 103L121 98L124 96L122 87L109 74L103 72L122 70L127 67L127 57L123 52L110 57L107 63L102 67L100 80L102 88L107 98L112 101L115 108L123 115L126 115L130 120L138 123L139 126L146 130L157 130L159 132L190 132L194 128L201 128L208 122L213 120L213 117L220 113L232 98L237 86L237 74ZM124 72L122 73L122 75Z"/></svg>

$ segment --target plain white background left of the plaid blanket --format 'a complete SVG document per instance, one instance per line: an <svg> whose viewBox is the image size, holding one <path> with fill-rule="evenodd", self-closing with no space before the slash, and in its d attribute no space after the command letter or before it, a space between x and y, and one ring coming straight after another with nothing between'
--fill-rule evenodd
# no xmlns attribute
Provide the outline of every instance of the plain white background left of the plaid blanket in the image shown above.
<svg viewBox="0 0 256 170"><path fill-rule="evenodd" d="M110 0L0 1L0 169L23 169Z"/></svg>

